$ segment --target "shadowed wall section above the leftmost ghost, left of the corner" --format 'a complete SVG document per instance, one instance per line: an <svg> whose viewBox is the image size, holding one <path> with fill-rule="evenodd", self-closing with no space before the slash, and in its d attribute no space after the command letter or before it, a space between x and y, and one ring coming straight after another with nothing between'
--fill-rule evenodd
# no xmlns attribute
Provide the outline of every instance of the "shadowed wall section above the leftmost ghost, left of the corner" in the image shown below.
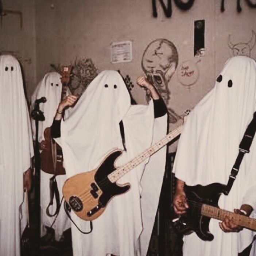
<svg viewBox="0 0 256 256"><path fill-rule="evenodd" d="M19 59L23 66L27 96L30 97L36 83L35 1L2 2L7 11L4 11L6 15L2 17L0 24L0 53L12 54Z"/></svg>

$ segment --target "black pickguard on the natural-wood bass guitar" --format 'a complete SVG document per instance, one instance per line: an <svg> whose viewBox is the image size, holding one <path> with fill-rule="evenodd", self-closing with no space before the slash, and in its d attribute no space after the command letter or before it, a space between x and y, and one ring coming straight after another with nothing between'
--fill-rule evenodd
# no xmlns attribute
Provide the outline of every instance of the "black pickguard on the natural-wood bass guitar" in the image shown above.
<svg viewBox="0 0 256 256"><path fill-rule="evenodd" d="M122 151L120 150L111 153L98 168L94 176L97 186L102 190L99 198L99 205L101 207L105 207L113 196L123 194L130 188L130 185L118 186L108 179L108 175L116 170L114 163L121 154Z"/></svg>

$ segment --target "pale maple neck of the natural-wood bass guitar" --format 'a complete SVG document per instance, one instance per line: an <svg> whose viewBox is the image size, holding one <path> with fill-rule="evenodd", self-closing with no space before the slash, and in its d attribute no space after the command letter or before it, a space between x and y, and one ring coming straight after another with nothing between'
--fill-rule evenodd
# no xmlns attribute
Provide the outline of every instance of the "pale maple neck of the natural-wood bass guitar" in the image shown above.
<svg viewBox="0 0 256 256"><path fill-rule="evenodd" d="M127 164L124 164L123 166L117 168L115 171L110 173L108 175L108 178L111 182L116 182L118 179L120 179L123 175L125 175L127 172L138 166L140 163L142 163L145 159L153 155L156 151L160 150L163 146L165 146L168 142L170 142L172 139L177 137L181 134L183 125L180 125L172 132L168 133L162 140L155 143L153 146L148 148L146 151L141 153L139 156L128 162Z"/></svg>

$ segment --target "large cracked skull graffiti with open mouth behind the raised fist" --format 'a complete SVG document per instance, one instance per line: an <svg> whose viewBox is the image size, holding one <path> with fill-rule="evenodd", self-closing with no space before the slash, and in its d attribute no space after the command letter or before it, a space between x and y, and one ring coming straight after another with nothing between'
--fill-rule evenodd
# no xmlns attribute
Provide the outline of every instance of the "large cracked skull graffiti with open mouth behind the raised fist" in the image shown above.
<svg viewBox="0 0 256 256"><path fill-rule="evenodd" d="M168 82L177 69L178 61L177 48L167 39L156 39L148 44L141 60L145 75L158 89L167 107L170 101ZM169 107L168 112L170 123L176 123L181 118Z"/></svg>

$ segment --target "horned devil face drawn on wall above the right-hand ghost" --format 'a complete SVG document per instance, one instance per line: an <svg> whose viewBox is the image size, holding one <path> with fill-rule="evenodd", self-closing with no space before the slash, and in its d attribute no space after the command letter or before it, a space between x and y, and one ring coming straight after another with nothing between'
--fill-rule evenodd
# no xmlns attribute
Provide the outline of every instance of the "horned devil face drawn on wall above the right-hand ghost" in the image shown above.
<svg viewBox="0 0 256 256"><path fill-rule="evenodd" d="M251 51L255 46L256 42L256 34L255 31L252 30L252 37L247 42L232 42L231 36L228 36L228 46L232 50L233 55L244 55L251 57Z"/></svg>

